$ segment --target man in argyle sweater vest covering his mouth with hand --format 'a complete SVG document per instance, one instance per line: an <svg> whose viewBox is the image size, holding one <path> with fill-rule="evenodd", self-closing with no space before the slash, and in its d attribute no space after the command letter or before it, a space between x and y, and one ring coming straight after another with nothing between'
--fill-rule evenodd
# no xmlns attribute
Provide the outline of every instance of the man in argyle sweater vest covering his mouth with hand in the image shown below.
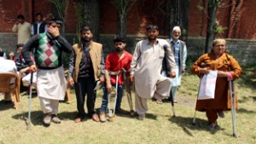
<svg viewBox="0 0 256 144"><path fill-rule="evenodd" d="M48 30L33 36L22 49L22 55L32 72L38 72L37 91L40 106L44 112L44 125L49 126L51 122L60 124L61 119L57 117L59 101L64 100L67 82L61 61L61 53L70 53L72 46L61 36L62 22L60 20L49 20ZM35 49L32 60L31 52Z"/></svg>

